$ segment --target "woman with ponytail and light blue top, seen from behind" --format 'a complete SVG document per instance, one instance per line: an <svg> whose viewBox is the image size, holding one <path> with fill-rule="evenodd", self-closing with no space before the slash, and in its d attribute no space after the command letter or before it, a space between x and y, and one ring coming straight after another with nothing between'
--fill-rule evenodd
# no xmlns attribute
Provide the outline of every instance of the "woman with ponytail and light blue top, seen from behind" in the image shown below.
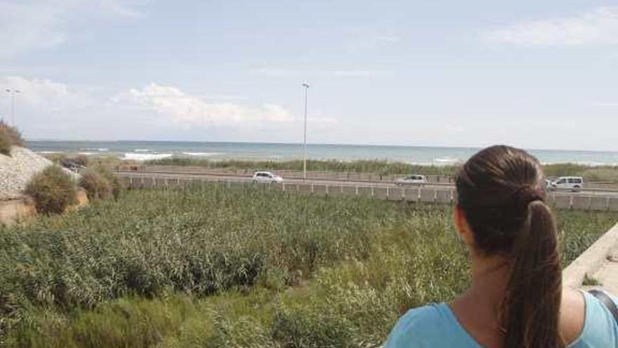
<svg viewBox="0 0 618 348"><path fill-rule="evenodd" d="M463 165L456 188L454 224L470 250L471 287L450 304L408 311L385 348L618 347L607 307L562 288L558 233L534 157L486 148Z"/></svg>

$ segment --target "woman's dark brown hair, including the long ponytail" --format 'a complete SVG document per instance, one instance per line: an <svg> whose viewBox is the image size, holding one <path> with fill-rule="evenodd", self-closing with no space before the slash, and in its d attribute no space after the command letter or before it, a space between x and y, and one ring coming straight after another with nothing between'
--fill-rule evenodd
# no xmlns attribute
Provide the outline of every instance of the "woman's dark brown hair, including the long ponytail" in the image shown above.
<svg viewBox="0 0 618 348"><path fill-rule="evenodd" d="M558 318L562 273L553 214L544 201L539 161L524 150L492 146L461 168L458 206L475 249L508 259L499 320L506 348L564 348Z"/></svg>

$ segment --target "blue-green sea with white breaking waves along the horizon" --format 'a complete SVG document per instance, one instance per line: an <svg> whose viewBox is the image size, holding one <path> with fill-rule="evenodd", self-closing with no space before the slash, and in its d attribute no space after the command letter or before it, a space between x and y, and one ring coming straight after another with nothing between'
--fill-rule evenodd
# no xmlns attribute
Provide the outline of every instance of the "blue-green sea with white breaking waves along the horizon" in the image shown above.
<svg viewBox="0 0 618 348"><path fill-rule="evenodd" d="M169 157L279 161L303 158L303 145L298 143L32 140L27 141L27 146L41 154L106 155L137 161ZM308 144L307 157L317 160L390 160L419 165L452 165L465 161L478 150L480 148ZM618 151L528 150L544 164L618 165Z"/></svg>

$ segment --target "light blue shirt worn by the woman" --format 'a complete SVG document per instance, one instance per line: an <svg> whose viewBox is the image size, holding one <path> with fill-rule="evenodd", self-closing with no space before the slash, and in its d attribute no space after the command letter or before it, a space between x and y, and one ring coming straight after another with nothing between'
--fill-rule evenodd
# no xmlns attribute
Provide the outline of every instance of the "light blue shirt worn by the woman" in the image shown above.
<svg viewBox="0 0 618 348"><path fill-rule="evenodd" d="M584 293L584 330L568 348L618 348L618 323L596 297ZM614 302L617 299L612 297ZM482 348L459 324L447 304L430 304L409 310L395 324L384 348Z"/></svg>

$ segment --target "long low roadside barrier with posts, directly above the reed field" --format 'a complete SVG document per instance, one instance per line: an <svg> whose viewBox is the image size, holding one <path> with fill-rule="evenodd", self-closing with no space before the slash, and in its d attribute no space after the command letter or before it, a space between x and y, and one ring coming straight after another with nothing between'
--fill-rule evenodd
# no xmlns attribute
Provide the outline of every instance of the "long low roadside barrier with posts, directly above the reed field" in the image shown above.
<svg viewBox="0 0 618 348"><path fill-rule="evenodd" d="M414 187L391 187L375 185L359 185L355 183L252 183L248 179L230 178L190 178L180 176L152 176L143 174L123 174L117 172L118 178L128 188L169 188L171 186L184 186L192 183L221 183L227 187L242 187L260 185L268 191L280 191L287 193L301 193L322 196L337 195L364 195L376 199L406 201L416 203L452 204L456 200L456 191L452 187L428 188L423 186ZM612 195L585 195L582 193L548 193L548 202L558 209L570 210L597 210L618 211L618 196Z"/></svg>

